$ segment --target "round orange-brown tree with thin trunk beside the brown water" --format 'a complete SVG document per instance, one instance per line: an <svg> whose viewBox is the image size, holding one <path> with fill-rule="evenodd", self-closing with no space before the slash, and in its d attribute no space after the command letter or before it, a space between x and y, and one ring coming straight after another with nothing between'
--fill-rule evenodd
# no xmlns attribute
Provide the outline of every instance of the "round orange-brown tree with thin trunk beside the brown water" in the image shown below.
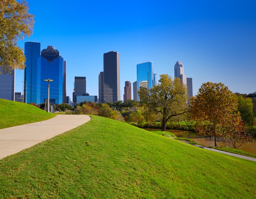
<svg viewBox="0 0 256 199"><path fill-rule="evenodd" d="M237 110L237 99L222 83L203 83L197 98L190 100L190 112L196 121L195 130L199 134L216 138L221 135L221 128L228 123L230 114Z"/></svg>

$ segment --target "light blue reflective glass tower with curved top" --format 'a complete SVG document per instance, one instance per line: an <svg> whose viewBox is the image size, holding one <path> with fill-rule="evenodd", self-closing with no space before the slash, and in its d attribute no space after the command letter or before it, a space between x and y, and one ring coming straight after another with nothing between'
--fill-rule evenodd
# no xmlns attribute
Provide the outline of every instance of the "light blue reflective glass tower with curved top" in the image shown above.
<svg viewBox="0 0 256 199"><path fill-rule="evenodd" d="M146 87L148 90L154 87L153 62L137 64L137 90ZM139 95L137 95L139 101Z"/></svg>

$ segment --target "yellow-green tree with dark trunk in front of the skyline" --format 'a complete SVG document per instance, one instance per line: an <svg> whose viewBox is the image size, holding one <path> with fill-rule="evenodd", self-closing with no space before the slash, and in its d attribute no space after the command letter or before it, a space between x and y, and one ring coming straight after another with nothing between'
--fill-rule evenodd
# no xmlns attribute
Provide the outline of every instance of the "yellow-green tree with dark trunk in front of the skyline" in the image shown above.
<svg viewBox="0 0 256 199"><path fill-rule="evenodd" d="M143 102L148 101L156 113L162 114L162 131L165 131L166 122L171 117L187 111L188 93L179 78L172 80L168 74L160 75L159 83L150 90L142 87L139 96Z"/></svg>

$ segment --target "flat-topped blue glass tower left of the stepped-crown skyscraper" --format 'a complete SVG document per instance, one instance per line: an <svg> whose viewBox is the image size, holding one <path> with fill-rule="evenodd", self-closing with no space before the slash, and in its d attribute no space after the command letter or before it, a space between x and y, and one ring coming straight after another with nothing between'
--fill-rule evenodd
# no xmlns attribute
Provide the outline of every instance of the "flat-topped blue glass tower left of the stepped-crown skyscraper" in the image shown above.
<svg viewBox="0 0 256 199"><path fill-rule="evenodd" d="M26 103L37 103L37 82L40 81L37 59L40 56L40 47L41 44L38 42L25 42L24 102Z"/></svg>

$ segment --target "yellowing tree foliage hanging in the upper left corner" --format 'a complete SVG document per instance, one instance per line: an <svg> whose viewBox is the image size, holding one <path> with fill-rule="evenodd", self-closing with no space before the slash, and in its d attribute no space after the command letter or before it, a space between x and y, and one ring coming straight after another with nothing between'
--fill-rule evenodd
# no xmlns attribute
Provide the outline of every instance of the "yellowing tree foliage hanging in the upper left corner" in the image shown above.
<svg viewBox="0 0 256 199"><path fill-rule="evenodd" d="M23 49L17 46L17 41L33 33L34 15L28 10L25 0L0 1L0 68L3 73L26 67Z"/></svg>

